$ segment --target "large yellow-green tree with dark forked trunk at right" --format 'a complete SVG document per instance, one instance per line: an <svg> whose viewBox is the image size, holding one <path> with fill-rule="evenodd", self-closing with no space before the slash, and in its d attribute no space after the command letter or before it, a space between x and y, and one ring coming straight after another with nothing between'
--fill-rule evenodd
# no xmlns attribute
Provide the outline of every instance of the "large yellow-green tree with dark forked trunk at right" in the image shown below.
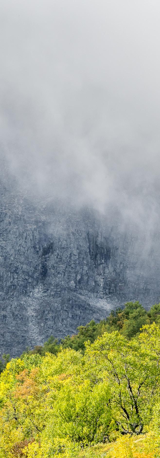
<svg viewBox="0 0 160 458"><path fill-rule="evenodd" d="M144 327L143 337L146 329ZM156 325L155 325L156 327ZM159 327L157 333L159 332ZM141 341L144 339L141 339ZM160 336L159 336L160 341ZM86 343L92 365L107 373L111 384L111 410L115 425L122 434L141 434L151 420L154 394L160 388L160 370L155 358L155 348L139 340L128 341L118 331L104 333L94 344Z"/></svg>

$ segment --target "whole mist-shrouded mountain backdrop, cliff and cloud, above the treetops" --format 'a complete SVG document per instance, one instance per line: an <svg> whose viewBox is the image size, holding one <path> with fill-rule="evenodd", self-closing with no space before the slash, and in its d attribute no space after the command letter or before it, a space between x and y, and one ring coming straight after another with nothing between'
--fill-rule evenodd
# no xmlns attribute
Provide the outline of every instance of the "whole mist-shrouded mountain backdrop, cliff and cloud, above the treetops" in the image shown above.
<svg viewBox="0 0 160 458"><path fill-rule="evenodd" d="M160 4L1 2L1 349L160 300Z"/></svg>

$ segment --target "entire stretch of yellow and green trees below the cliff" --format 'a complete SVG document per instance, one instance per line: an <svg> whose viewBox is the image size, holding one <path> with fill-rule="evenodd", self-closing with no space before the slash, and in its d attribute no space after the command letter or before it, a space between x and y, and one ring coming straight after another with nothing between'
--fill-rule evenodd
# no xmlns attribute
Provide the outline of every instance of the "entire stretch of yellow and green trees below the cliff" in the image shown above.
<svg viewBox="0 0 160 458"><path fill-rule="evenodd" d="M159 458L160 304L3 355L0 458Z"/></svg>

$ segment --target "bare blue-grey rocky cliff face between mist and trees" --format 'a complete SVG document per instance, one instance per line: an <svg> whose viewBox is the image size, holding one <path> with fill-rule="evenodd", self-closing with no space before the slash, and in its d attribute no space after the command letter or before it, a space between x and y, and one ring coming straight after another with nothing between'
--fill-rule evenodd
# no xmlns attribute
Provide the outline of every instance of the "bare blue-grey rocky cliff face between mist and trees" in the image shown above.
<svg viewBox="0 0 160 458"><path fill-rule="evenodd" d="M107 217L34 207L5 186L0 196L1 353L73 333L126 300L160 300L158 254L142 260L141 242L111 230Z"/></svg>

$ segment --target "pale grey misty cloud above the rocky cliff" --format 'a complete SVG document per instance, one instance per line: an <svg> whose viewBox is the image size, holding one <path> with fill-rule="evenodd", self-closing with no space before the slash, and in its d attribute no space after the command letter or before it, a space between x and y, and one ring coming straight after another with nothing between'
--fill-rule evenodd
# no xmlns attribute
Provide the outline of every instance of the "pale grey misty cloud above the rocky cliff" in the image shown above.
<svg viewBox="0 0 160 458"><path fill-rule="evenodd" d="M0 142L32 194L156 224L160 1L1 0Z"/></svg>

